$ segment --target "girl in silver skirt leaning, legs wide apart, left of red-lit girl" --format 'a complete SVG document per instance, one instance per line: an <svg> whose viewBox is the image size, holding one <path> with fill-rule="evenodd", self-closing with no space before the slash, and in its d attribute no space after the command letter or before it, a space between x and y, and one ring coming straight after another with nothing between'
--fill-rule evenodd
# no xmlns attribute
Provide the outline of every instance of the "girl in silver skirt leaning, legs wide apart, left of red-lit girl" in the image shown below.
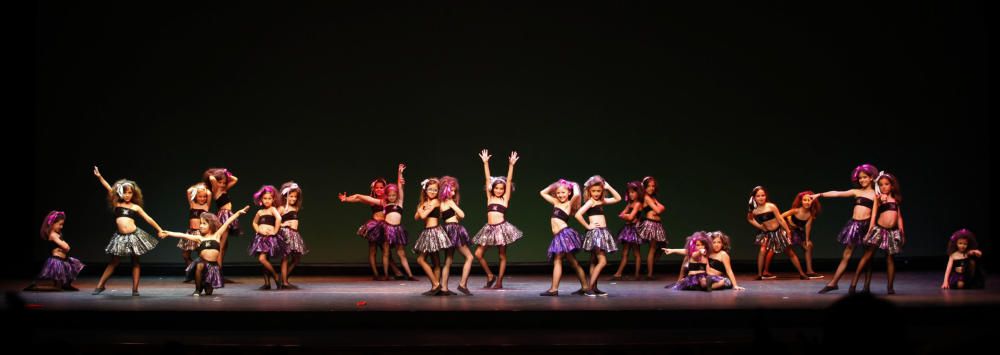
<svg viewBox="0 0 1000 355"><path fill-rule="evenodd" d="M765 272L764 259L769 253L785 253L799 272L799 278L808 280L809 277L802 272L802 265L799 264L799 256L789 248L792 240L791 231L785 219L781 218L781 211L767 199L767 190L762 186L754 187L750 192L750 202L747 207L747 222L754 228L760 230L754 240L754 244L760 246L757 253L757 280L773 279L776 276Z"/></svg>

